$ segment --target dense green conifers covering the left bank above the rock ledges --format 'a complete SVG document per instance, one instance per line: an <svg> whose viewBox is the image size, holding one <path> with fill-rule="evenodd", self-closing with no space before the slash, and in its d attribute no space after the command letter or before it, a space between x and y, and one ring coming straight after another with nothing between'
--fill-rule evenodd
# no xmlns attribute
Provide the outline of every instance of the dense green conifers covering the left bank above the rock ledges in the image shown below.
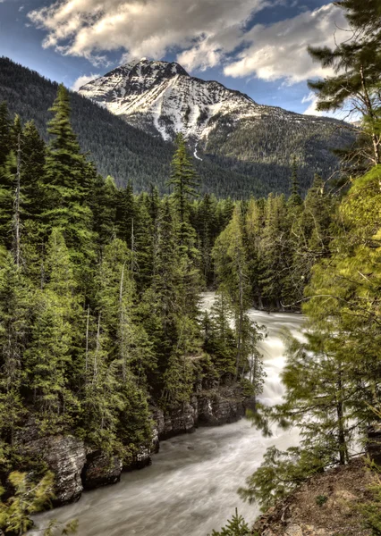
<svg viewBox="0 0 381 536"><path fill-rule="evenodd" d="M128 462L150 445L149 404L169 409L233 380L248 395L260 389L260 368L244 380L255 326L237 353L234 302L221 296L211 314L199 311L233 202L194 201L181 136L169 197L117 188L81 153L63 86L51 113L46 144L0 105L2 477L28 467L17 450L26 423Z"/></svg>

